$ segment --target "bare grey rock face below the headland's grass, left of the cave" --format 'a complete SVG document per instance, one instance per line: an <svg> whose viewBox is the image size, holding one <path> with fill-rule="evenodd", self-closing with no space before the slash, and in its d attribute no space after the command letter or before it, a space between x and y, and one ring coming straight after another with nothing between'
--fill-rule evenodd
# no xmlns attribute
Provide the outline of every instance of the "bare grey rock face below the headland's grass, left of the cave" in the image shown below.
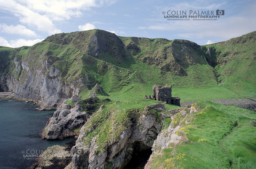
<svg viewBox="0 0 256 169"><path fill-rule="evenodd" d="M159 106L162 105L156 107ZM97 149L99 145L96 137L92 138L89 145L84 143L87 133L83 132L83 128L76 145L71 150L74 168L123 168L132 158L135 145L140 145L140 150L152 147L160 133L162 123L159 123L155 116L144 111L138 120L132 119L127 123L126 129L118 139L108 143L103 152ZM92 128L90 132L94 132L93 130L95 129Z"/></svg>

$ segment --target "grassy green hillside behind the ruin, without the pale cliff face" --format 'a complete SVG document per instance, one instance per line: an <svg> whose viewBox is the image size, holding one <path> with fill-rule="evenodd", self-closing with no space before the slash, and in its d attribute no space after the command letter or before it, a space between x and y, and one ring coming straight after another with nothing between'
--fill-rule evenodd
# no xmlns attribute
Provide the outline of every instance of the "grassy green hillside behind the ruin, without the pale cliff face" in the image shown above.
<svg viewBox="0 0 256 169"><path fill-rule="evenodd" d="M92 35L110 42L105 51L98 51L97 57L88 55L88 53L91 54L88 50L94 47L89 44ZM250 35L250 37L254 37L254 35ZM89 78L91 85L84 86L80 93L84 99L88 97L89 89L97 82L103 86L111 100L130 101L143 98L145 94L152 94L151 88L154 84L171 84L173 96L179 96L181 101L255 97L252 92L255 91L256 68L255 61L251 60L255 55L253 52L255 38L251 38L244 44L239 42L231 47L225 46L221 42L219 47L216 47L216 51L229 48L231 51L241 45L246 46L243 47L243 50L237 49L236 53L239 54L235 55L235 59L240 59L240 66L237 66L238 63L235 62L235 59L220 69L216 66L215 69L220 74L227 69L230 71L236 69L230 76L227 73L222 75L223 84L219 83L216 70L207 64L206 51L201 51L200 46L193 42L161 38L120 38L128 51L117 44L114 34L101 30L55 34L32 47L15 49L1 47L1 51L9 52L10 61L8 62L11 62L8 69L5 69L6 72L1 72L1 74L15 73L12 61L14 56L18 58L18 61L29 63L30 68L40 68L38 67L40 59L44 60L48 55L52 55L60 59L54 63L54 66L61 70L62 80L73 81L77 77L82 77L83 80ZM182 46L188 46L189 50L181 52ZM248 52L244 54L241 51ZM175 56L175 52L180 58ZM1 55L1 58L6 58L3 56ZM247 56L249 59L246 59ZM241 65L245 65L243 69L241 69ZM44 70L43 73L46 73L47 70L45 68ZM183 71L186 75L175 75L177 72ZM25 82L26 77L25 69L16 73L16 78L19 78L20 82ZM231 85L230 81L236 82L238 85L234 86L233 83Z"/></svg>

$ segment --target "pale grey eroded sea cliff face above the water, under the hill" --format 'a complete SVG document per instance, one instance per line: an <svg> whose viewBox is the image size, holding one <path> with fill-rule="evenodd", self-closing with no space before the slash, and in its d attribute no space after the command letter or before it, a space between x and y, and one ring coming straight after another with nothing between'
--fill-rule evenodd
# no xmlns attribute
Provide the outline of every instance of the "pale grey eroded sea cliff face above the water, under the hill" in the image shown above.
<svg viewBox="0 0 256 169"><path fill-rule="evenodd" d="M57 109L63 102L78 95L80 87L84 85L82 77L72 82L61 80L60 69L53 66L58 60L55 56L49 56L45 60L39 59L37 67L33 67L32 63L15 59L16 71L13 75L1 77L1 87L5 86L4 91L15 92L15 98L41 102L41 109Z"/></svg>

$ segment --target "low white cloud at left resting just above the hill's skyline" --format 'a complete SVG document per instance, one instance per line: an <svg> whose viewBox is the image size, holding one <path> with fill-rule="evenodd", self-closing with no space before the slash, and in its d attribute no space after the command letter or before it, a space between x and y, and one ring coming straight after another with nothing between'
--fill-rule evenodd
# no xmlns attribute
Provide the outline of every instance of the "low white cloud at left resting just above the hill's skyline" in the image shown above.
<svg viewBox="0 0 256 169"><path fill-rule="evenodd" d="M3 37L0 37L0 46L18 48L21 46L32 46L43 40L44 39L34 39L34 40L16 39L16 40L10 40L10 42L8 42Z"/></svg>

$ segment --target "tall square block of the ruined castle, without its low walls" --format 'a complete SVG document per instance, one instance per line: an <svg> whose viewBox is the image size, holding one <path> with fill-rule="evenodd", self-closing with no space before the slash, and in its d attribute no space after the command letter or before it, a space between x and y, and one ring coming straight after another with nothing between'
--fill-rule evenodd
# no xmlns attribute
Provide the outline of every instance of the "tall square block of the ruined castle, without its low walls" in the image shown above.
<svg viewBox="0 0 256 169"><path fill-rule="evenodd" d="M165 85L162 86L153 86L153 94L152 94L153 100L159 100L166 103L171 103L172 100L172 86Z"/></svg>

